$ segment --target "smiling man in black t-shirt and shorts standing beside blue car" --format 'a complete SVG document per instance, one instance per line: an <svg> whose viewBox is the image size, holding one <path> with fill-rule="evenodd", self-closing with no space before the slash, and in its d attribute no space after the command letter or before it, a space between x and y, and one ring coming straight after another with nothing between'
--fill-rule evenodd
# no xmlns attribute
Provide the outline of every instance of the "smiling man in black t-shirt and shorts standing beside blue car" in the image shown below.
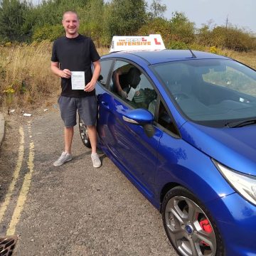
<svg viewBox="0 0 256 256"><path fill-rule="evenodd" d="M58 99L58 104L65 124L65 151L53 165L60 166L72 159L71 144L78 111L82 121L87 125L92 146L92 164L97 168L100 167L101 162L96 152L97 130L95 122L97 100L95 97L95 85L100 75L100 55L97 53L92 40L78 33L79 19L74 11L66 11L63 14L62 23L65 29L65 36L58 38L53 44L50 68L55 75L61 78L62 92ZM93 75L91 70L92 63L94 66ZM76 89L74 87L75 82L73 82L73 85L71 83L72 71L82 71L84 73L85 87L83 90L74 90Z"/></svg>

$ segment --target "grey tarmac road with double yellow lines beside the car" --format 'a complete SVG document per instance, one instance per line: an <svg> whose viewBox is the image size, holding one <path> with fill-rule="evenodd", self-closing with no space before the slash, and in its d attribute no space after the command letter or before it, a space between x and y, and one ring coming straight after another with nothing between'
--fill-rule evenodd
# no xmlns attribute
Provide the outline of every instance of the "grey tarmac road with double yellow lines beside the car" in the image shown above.
<svg viewBox="0 0 256 256"><path fill-rule="evenodd" d="M92 167L78 126L73 161L56 168L59 112L22 118L9 122L0 151L9 181L0 191L0 237L18 235L14 255L176 255L160 213L112 161L100 154L102 167Z"/></svg>

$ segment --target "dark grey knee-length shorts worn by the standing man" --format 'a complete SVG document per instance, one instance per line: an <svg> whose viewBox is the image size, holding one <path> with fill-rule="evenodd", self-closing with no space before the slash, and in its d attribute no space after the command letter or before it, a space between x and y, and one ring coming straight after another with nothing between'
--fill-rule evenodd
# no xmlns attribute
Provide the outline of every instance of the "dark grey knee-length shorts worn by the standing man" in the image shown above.
<svg viewBox="0 0 256 256"><path fill-rule="evenodd" d="M65 127L74 127L77 124L77 112L85 125L95 125L97 117L96 97L65 97L58 98L60 115Z"/></svg>

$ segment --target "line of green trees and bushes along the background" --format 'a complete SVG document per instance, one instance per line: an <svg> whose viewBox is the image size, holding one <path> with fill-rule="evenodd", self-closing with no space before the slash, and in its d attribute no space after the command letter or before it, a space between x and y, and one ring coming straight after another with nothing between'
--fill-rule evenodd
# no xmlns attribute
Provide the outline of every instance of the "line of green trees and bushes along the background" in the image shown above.
<svg viewBox="0 0 256 256"><path fill-rule="evenodd" d="M167 48L209 46L230 50L256 50L252 34L232 24L205 24L196 28L185 14L174 12L164 18L166 5L153 0L0 0L0 42L32 43L54 41L63 36L63 12L73 10L80 18L80 33L90 36L98 47L110 46L112 36L146 36L161 33Z"/></svg>

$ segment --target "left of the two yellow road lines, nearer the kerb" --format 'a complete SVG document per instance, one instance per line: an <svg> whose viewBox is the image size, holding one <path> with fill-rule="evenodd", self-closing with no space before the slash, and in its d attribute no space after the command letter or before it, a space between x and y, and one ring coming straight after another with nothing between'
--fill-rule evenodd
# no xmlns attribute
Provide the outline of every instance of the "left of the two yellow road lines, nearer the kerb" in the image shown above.
<svg viewBox="0 0 256 256"><path fill-rule="evenodd" d="M17 160L16 167L15 167L15 170L14 170L13 180L11 181L11 183L9 185L9 189L6 193L4 203L1 205L1 208L0 208L0 223L1 223L1 220L4 218L4 213L6 212L7 207L9 206L9 203L10 203L10 200L11 200L11 195L14 192L14 186L15 186L16 181L18 179L18 174L21 170L21 165L22 165L22 161L23 161L23 156L24 156L24 132L23 132L22 127L19 128L19 134L21 136L21 141L20 141L20 146L19 146L19 149L18 149L18 160Z"/></svg>

